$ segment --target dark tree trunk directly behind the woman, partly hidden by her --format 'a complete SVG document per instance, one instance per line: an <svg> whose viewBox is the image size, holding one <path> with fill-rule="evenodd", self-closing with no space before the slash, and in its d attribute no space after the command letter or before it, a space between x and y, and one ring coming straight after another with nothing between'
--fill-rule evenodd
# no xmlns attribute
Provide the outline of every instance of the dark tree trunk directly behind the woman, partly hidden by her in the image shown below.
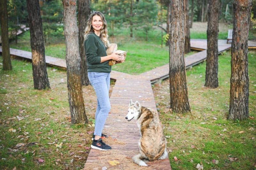
<svg viewBox="0 0 256 170"><path fill-rule="evenodd" d="M87 19L90 16L90 1L78 0L78 26L79 26L79 54L81 58L81 83L82 85L90 85L90 81L87 75L87 62L84 50L84 29L86 27Z"/></svg>

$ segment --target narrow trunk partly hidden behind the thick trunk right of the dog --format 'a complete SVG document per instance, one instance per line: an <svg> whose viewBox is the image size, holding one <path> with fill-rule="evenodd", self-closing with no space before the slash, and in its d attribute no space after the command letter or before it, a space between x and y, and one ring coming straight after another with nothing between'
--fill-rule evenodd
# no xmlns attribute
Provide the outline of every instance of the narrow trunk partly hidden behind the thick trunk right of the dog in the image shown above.
<svg viewBox="0 0 256 170"><path fill-rule="evenodd" d="M185 12L186 12L186 26L185 26L185 44L184 52L190 52L190 26L189 26L189 4L188 0L185 0Z"/></svg>

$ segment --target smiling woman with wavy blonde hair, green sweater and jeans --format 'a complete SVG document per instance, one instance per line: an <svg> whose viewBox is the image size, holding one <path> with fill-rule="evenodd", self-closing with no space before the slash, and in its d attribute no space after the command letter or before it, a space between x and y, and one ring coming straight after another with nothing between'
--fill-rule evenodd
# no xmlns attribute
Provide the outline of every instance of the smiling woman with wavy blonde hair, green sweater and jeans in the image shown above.
<svg viewBox="0 0 256 170"><path fill-rule="evenodd" d="M104 136L102 130L110 111L108 93L111 66L108 65L108 60L113 59L122 63L122 56L116 55L116 53L107 55L106 50L109 47L107 22L104 15L99 11L93 12L87 20L84 40L88 78L97 95L95 128L91 148L108 151L111 147L101 139L101 136Z"/></svg>

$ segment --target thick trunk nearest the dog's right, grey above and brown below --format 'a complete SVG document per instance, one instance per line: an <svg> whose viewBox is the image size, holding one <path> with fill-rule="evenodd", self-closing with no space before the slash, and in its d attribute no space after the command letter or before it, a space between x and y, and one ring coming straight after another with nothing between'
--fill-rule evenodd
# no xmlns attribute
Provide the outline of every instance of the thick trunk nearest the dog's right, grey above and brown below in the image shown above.
<svg viewBox="0 0 256 170"><path fill-rule="evenodd" d="M169 78L170 106L174 112L190 112L184 59L185 6L184 0L170 5Z"/></svg>

